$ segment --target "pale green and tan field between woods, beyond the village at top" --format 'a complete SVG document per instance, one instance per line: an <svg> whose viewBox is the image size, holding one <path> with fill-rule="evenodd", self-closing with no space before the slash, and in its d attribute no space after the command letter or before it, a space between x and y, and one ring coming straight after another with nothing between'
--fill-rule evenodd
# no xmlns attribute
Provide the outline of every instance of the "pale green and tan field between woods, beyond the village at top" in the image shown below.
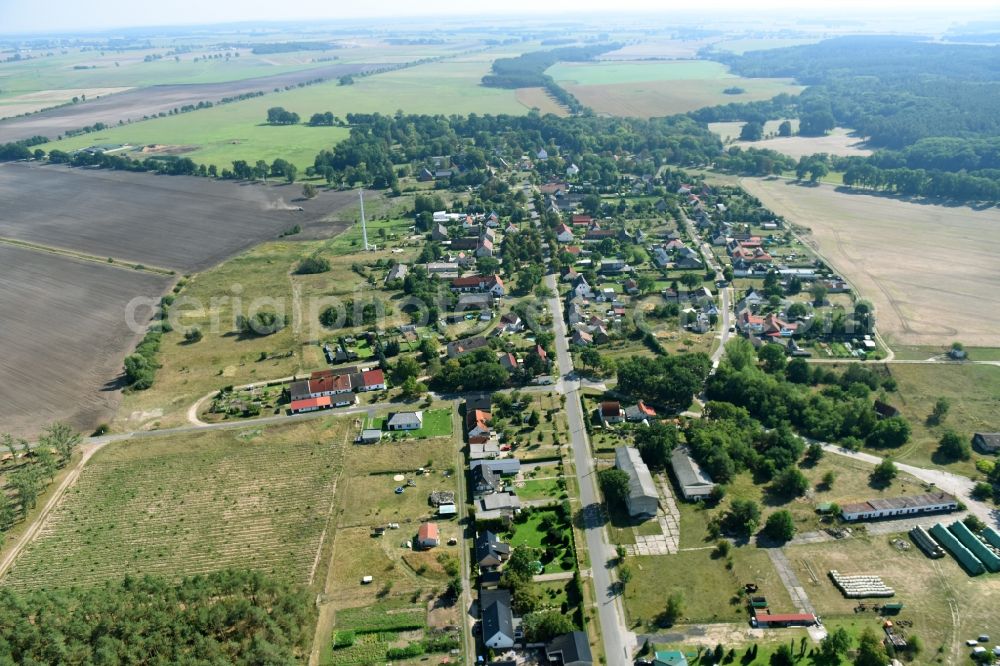
<svg viewBox="0 0 1000 666"><path fill-rule="evenodd" d="M770 99L779 93L801 90L784 79L734 76L725 66L707 60L560 63L547 73L598 113L641 118ZM744 92L724 92L732 87Z"/></svg>

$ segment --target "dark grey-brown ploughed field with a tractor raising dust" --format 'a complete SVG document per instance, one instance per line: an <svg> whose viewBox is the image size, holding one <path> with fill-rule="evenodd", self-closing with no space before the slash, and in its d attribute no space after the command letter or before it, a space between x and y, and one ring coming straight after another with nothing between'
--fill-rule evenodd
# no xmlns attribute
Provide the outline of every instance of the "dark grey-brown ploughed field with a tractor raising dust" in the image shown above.
<svg viewBox="0 0 1000 666"><path fill-rule="evenodd" d="M100 258L200 271L357 200L351 192L323 192L298 201L300 193L297 185L6 164L0 167L0 201L5 205L0 236ZM335 226L331 223L331 229Z"/></svg>

